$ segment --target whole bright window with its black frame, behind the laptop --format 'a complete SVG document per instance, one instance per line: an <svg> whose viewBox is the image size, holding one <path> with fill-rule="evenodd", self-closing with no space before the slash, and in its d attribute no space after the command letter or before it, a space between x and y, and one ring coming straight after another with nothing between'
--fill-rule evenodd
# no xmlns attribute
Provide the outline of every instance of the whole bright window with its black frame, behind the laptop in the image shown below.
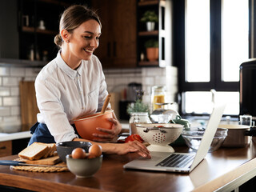
<svg viewBox="0 0 256 192"><path fill-rule="evenodd" d="M239 114L239 66L251 54L250 1L177 0L174 6L174 21L184 24L174 22L174 35L184 34L174 40L182 114L210 114L212 89L215 102L227 102L224 114Z"/></svg>

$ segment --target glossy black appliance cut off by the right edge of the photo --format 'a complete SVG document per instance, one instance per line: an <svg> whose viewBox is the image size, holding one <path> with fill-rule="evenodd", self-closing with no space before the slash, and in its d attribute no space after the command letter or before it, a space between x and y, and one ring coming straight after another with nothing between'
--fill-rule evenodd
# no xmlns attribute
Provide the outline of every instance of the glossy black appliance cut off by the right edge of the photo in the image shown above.
<svg viewBox="0 0 256 192"><path fill-rule="evenodd" d="M256 58L240 65L240 113L256 118Z"/></svg>

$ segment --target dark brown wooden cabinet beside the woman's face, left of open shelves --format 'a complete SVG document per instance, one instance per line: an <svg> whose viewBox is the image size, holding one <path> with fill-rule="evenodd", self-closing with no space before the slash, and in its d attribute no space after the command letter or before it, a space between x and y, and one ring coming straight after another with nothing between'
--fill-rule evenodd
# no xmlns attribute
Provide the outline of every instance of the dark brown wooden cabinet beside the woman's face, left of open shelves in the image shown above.
<svg viewBox="0 0 256 192"><path fill-rule="evenodd" d="M102 35L94 54L103 68L137 66L136 5L136 0L91 2L102 21Z"/></svg>

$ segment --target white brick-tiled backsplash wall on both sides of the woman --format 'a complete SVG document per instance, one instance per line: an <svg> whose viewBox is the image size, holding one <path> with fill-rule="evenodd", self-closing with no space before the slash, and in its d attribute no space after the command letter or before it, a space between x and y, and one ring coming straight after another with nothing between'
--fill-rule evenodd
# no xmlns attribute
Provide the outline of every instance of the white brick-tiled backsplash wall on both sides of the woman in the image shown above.
<svg viewBox="0 0 256 192"><path fill-rule="evenodd" d="M21 120L19 82L34 81L40 68L22 68L0 66L0 123ZM177 74L175 67L138 68L123 70L104 70L109 92L120 92L127 88L130 82L142 83L145 91L143 102L150 102L152 86L166 86L170 98L174 100L177 93Z"/></svg>

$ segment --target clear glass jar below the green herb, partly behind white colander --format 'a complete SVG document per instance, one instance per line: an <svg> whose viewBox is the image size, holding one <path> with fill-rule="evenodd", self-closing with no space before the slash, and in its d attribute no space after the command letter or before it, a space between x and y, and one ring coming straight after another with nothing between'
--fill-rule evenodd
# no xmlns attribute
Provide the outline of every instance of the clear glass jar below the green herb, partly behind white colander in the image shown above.
<svg viewBox="0 0 256 192"><path fill-rule="evenodd" d="M138 134L135 124L151 123L149 114L146 112L134 112L130 114L129 129L130 134Z"/></svg>

